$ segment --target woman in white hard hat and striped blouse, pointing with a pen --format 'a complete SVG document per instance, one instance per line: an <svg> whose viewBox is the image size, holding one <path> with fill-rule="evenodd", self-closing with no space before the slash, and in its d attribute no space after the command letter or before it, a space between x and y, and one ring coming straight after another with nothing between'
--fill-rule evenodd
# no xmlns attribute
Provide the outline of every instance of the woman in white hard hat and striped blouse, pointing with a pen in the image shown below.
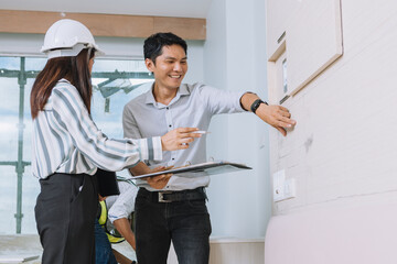
<svg viewBox="0 0 397 264"><path fill-rule="evenodd" d="M97 167L120 170L141 160L162 160L162 151L189 147L196 129L163 136L110 140L90 117L90 72L99 52L88 29L60 20L45 34L49 61L31 92L33 175L41 193L35 206L43 264L95 263L94 220ZM186 144L187 143L187 144ZM163 180L160 176L158 180Z"/></svg>

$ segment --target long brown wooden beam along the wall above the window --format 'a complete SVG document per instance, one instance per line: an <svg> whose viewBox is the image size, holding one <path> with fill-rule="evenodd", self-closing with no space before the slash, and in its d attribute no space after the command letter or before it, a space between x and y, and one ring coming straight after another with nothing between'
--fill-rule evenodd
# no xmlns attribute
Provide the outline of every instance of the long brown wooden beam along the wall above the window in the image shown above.
<svg viewBox="0 0 397 264"><path fill-rule="evenodd" d="M157 32L173 32L185 40L205 40L206 20L97 13L60 13L0 10L0 32L45 34L60 19L85 24L95 36L148 37Z"/></svg>

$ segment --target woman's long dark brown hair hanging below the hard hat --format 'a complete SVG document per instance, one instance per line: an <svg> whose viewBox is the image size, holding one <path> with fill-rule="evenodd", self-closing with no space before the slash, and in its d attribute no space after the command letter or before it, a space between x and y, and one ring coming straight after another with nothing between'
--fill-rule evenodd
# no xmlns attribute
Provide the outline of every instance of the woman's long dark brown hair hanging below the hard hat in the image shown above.
<svg viewBox="0 0 397 264"><path fill-rule="evenodd" d="M88 51L90 51L89 58L93 58L95 51L85 48L75 57L55 57L47 61L32 87L30 98L32 119L35 119L39 111L44 109L52 89L62 78L67 79L77 88L84 105L90 112L93 87L88 67L89 59L87 59Z"/></svg>

